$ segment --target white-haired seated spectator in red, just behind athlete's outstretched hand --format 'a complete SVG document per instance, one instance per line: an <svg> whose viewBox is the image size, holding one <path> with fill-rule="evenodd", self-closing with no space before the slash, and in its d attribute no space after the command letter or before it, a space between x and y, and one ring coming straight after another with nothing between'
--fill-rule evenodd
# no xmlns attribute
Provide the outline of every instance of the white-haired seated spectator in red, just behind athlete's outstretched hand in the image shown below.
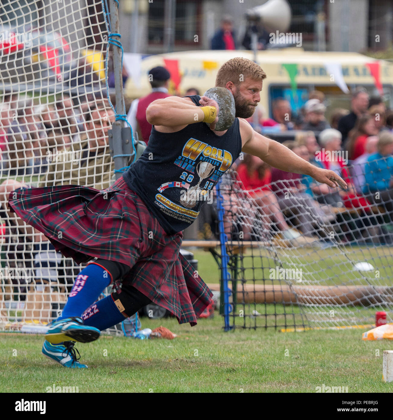
<svg viewBox="0 0 393 420"><path fill-rule="evenodd" d="M356 193L351 176L347 167L347 152L341 150L341 133L335 129L327 129L319 134L319 143L322 151L317 153L317 160L320 160L325 169L330 169L346 181L346 190L340 189L340 197L344 207L361 210L368 213L371 211L370 203ZM336 195L335 195L336 196ZM330 203L328 203L330 204ZM341 207L336 203L337 207Z"/></svg>

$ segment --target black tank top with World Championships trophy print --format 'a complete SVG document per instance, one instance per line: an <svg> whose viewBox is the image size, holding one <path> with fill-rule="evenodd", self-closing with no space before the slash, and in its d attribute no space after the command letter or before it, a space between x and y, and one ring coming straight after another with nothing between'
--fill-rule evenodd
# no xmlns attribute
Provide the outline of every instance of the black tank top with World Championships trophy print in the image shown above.
<svg viewBox="0 0 393 420"><path fill-rule="evenodd" d="M199 106L199 95L190 98ZM176 133L161 133L153 126L148 147L123 177L172 235L195 221L241 148L238 118L223 136L206 123L189 124Z"/></svg>

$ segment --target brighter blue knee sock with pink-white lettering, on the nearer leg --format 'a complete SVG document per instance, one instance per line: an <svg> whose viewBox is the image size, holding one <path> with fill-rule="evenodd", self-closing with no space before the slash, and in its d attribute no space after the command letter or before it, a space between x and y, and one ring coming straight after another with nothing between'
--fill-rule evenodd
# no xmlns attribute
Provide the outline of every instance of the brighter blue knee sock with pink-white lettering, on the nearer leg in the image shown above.
<svg viewBox="0 0 393 420"><path fill-rule="evenodd" d="M89 264L76 276L66 306L58 320L70 316L80 317L110 283L111 275L105 268L94 263Z"/></svg>

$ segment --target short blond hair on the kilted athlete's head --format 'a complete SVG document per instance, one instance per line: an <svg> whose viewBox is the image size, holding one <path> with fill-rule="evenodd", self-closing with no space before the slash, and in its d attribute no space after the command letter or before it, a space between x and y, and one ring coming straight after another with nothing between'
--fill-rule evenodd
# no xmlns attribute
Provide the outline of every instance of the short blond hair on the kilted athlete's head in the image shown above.
<svg viewBox="0 0 393 420"><path fill-rule="evenodd" d="M239 86L248 77L254 80L266 79L266 73L261 66L247 58L235 57L224 63L217 72L216 86L226 87L227 82L231 81L235 86Z"/></svg>

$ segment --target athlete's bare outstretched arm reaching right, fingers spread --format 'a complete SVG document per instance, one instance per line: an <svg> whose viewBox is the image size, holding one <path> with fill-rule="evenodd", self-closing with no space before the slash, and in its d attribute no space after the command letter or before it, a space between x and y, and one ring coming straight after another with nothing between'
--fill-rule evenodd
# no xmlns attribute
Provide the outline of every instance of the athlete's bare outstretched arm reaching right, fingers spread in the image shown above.
<svg viewBox="0 0 393 420"><path fill-rule="evenodd" d="M252 129L247 121L240 119L242 151L260 157L268 165L286 172L310 175L316 181L331 187L347 187L346 182L335 172L317 168L275 140L268 139Z"/></svg>

